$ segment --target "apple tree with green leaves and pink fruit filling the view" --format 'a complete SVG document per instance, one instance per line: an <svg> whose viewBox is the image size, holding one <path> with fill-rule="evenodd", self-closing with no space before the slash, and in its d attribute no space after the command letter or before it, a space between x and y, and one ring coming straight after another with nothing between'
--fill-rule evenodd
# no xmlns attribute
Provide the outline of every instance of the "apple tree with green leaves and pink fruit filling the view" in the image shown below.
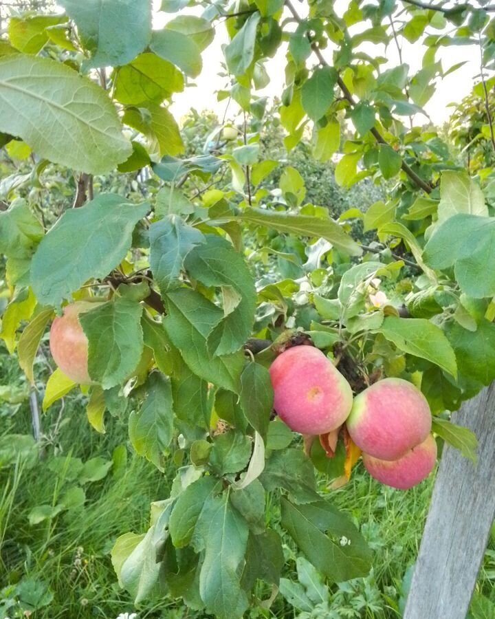
<svg viewBox="0 0 495 619"><path fill-rule="evenodd" d="M431 431L474 457L448 411L495 378L492 159L473 178L410 120L423 122L458 68L439 60L442 47L478 45L493 65L495 8L344 4L338 14L328 0L163 0L168 21L153 30L151 0L59 0L64 13L12 13L0 39L1 144L32 161L0 185L1 337L33 382L51 323L58 369L43 407L80 388L95 431L107 412L127 415L135 451L177 468L148 531L113 547L137 604L168 595L232 619L261 591L270 607L281 531L329 583L365 575L371 553L330 491L360 448L369 473L399 488L434 465ZM185 156L168 104L207 70L201 52L219 28L230 37L219 99L242 122L212 127L204 153ZM425 50L415 73L405 40ZM385 68L395 48L399 64ZM305 201L294 167L260 158L257 92L277 53L287 151L301 140L320 162L340 151L337 182L386 180L386 202L335 221L331 205ZM483 66L480 79L487 92ZM481 131L493 136L486 111ZM342 128L353 134L341 144ZM54 169L75 181L52 223L39 197ZM107 191L116 173L129 191ZM150 173L144 200L136 177ZM349 234L355 218L376 233L367 246ZM281 263L297 275L281 276ZM315 469L329 491L317 491ZM287 582L289 600L305 596Z"/></svg>

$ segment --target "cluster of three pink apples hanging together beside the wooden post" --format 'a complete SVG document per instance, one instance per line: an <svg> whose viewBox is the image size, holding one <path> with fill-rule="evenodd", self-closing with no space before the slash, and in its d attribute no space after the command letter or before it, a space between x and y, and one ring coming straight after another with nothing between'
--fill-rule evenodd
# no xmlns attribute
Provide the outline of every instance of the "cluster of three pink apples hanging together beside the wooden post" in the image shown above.
<svg viewBox="0 0 495 619"><path fill-rule="evenodd" d="M401 378L384 378L353 399L349 382L322 351L287 349L270 367L274 409L295 432L327 434L342 424L382 484L406 490L428 477L437 459L424 395Z"/></svg>

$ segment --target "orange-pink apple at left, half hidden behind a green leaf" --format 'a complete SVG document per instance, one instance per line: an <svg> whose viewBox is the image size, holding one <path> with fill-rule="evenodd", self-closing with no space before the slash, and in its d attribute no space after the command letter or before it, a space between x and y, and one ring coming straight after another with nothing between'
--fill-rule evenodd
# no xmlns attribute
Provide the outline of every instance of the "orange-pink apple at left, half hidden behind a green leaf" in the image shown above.
<svg viewBox="0 0 495 619"><path fill-rule="evenodd" d="M66 305L50 329L50 352L56 365L74 382L91 384L88 373L88 340L79 323L81 312L93 310L96 303L76 301Z"/></svg>

